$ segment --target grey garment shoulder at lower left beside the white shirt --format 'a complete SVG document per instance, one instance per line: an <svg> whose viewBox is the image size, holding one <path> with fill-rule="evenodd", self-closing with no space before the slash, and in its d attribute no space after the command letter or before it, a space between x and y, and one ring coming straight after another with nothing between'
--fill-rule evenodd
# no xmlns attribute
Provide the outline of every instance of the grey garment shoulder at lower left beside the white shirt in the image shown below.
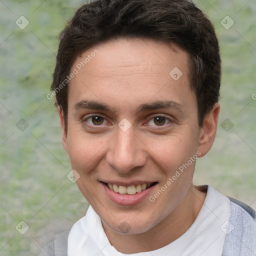
<svg viewBox="0 0 256 256"><path fill-rule="evenodd" d="M67 256L67 237L70 229L58 232L42 247L38 256Z"/></svg>

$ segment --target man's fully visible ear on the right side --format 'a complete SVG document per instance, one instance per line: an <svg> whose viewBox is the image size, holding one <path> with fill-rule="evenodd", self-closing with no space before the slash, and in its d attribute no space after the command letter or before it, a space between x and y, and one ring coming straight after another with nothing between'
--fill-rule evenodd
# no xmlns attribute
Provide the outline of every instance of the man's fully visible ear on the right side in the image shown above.
<svg viewBox="0 0 256 256"><path fill-rule="evenodd" d="M198 151L201 152L200 157L204 156L210 150L215 139L219 109L219 103L215 103L210 112L206 114L203 119L198 140Z"/></svg>

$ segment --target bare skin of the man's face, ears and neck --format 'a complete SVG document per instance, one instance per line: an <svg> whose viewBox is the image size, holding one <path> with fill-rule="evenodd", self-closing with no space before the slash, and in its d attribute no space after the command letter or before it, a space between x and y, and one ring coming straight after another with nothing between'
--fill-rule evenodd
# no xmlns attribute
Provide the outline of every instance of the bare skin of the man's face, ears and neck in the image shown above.
<svg viewBox="0 0 256 256"><path fill-rule="evenodd" d="M98 53L70 81L67 133L58 107L63 146L80 175L76 183L100 216L110 243L123 253L155 250L182 235L203 205L206 193L192 183L195 161L154 202L146 198L133 205L116 204L100 181L156 181L153 195L189 157L208 152L219 104L199 127L188 55L175 44L115 39L96 48ZM71 70L93 50L77 57ZM174 67L183 73L176 81L169 75ZM87 109L84 104L75 108L82 100L107 104L111 110ZM179 107L136 111L140 104L167 100ZM105 119L96 119L102 122L98 124L91 114ZM166 118L163 125L157 116ZM131 124L126 131L118 127L123 118ZM128 231L122 233L119 225Z"/></svg>

